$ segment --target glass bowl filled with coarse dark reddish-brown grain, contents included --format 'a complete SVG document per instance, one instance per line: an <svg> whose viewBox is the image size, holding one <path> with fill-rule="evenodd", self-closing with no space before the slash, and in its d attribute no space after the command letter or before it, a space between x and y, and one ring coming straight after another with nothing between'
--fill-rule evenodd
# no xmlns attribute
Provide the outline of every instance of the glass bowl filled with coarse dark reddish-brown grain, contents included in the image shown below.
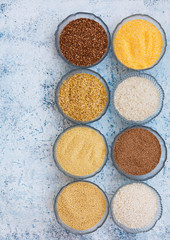
<svg viewBox="0 0 170 240"><path fill-rule="evenodd" d="M103 20L92 13L69 15L55 32L55 45L67 63L87 68L101 62L110 47L110 33Z"/></svg>

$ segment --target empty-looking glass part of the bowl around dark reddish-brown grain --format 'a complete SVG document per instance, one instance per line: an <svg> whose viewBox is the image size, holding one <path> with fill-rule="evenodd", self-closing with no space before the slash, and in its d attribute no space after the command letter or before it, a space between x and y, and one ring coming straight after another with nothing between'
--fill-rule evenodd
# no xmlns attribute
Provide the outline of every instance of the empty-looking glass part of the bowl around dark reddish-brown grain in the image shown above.
<svg viewBox="0 0 170 240"><path fill-rule="evenodd" d="M88 65L88 66L81 66L81 65L75 65L71 62L69 62L65 56L62 54L61 50L60 50L60 34L62 32L62 30L64 29L64 27L71 21L79 19L79 18L87 18L87 19L92 19L94 21L96 21L97 23L99 23L105 30L106 34L107 34L107 50L105 52L105 54L100 58L99 61L97 61L94 64ZM77 12L75 14L71 14L69 15L67 18L65 18L59 25L58 28L55 32L55 45L57 48L57 51L59 53L59 55L61 56L61 58L67 62L68 64L74 66L74 67L81 67L81 68L88 68L88 67L93 67L95 65L97 65L98 63L100 63L107 55L109 48L110 48L110 33L109 33L109 29L107 27L107 25L103 22L103 20L99 17L97 17L96 15L92 14L92 13L86 13L86 12Z"/></svg>

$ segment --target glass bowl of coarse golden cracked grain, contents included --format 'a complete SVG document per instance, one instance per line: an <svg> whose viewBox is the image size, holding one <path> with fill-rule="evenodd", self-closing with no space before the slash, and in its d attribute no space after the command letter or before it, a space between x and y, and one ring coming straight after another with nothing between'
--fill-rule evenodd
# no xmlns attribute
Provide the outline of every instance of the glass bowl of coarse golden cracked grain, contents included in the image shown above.
<svg viewBox="0 0 170 240"><path fill-rule="evenodd" d="M89 69L68 72L59 81L55 92L59 112L78 124L99 120L106 113L109 101L106 81Z"/></svg>

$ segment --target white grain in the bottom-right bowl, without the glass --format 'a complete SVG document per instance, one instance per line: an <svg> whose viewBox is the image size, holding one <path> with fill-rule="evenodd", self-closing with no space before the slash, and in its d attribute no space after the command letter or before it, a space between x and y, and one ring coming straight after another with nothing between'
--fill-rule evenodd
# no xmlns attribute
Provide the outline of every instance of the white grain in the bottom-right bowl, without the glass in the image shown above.
<svg viewBox="0 0 170 240"><path fill-rule="evenodd" d="M128 184L113 198L112 211L116 220L128 228L143 228L153 222L158 211L158 197L148 185Z"/></svg>

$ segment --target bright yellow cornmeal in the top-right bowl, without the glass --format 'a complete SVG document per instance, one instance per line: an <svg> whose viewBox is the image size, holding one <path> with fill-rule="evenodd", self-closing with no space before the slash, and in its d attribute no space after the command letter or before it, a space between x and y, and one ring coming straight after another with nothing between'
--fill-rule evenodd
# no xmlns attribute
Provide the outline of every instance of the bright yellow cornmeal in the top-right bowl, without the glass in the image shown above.
<svg viewBox="0 0 170 240"><path fill-rule="evenodd" d="M163 40L160 31L146 20L125 23L114 39L118 60L133 69L151 67L160 57Z"/></svg>

